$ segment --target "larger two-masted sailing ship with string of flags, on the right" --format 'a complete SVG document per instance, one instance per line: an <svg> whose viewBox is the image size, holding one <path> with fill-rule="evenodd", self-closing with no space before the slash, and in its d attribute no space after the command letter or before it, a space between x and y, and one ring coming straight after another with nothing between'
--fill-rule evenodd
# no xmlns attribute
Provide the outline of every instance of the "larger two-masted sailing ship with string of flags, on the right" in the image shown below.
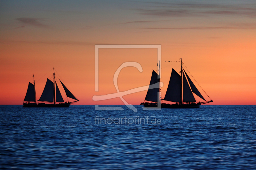
<svg viewBox="0 0 256 170"><path fill-rule="evenodd" d="M171 78L170 78L169 85L167 87L167 91L164 96L164 99L161 99L161 93L160 93L161 89L160 89L160 76L159 76L160 66L159 66L159 70L158 70L159 75L153 70L150 83L149 83L149 85L154 85L156 83L159 83L159 88L153 88L153 89L149 88L147 95L145 97L145 100L142 103L140 103L140 105L144 105L144 107L157 107L159 104L161 104L161 108L199 108L201 104L212 102L211 98L206 93L205 94L210 98L210 101L206 101L204 99L202 94L196 88L195 84L189 78L187 72L182 67L184 63L182 63L182 58L180 59L181 59L180 74L174 69L172 69ZM198 97L200 97L202 100L204 100L204 102L201 102L201 101L196 102L196 99L193 93L196 94ZM171 102L174 102L174 104L164 103L164 102L161 102L161 100L171 101Z"/></svg>

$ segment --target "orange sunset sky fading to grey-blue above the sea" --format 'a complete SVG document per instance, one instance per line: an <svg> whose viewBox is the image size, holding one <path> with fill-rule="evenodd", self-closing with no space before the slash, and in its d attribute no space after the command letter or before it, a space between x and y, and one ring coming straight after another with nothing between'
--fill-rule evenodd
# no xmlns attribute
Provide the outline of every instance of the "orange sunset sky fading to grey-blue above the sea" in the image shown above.
<svg viewBox="0 0 256 170"><path fill-rule="evenodd" d="M143 72L124 68L120 91L149 85L156 48L101 48L95 92L95 44L160 44L162 61L182 58L211 104L256 104L255 0L0 1L0 104L22 104L33 74L38 100L53 67L78 105L123 104L92 96L116 92L113 76L124 62ZM180 63L161 64L164 97ZM140 104L146 93L124 99Z"/></svg>

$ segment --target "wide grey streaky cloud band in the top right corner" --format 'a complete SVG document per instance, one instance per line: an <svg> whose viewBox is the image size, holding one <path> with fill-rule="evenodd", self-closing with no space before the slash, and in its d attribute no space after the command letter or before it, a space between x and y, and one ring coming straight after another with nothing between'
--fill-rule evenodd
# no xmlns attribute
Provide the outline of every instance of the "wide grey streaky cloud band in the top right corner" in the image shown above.
<svg viewBox="0 0 256 170"><path fill-rule="evenodd" d="M166 17L191 17L191 16L247 16L255 17L255 4L188 4L188 3L161 3L146 2L147 8L136 9L141 15L166 16Z"/></svg>

